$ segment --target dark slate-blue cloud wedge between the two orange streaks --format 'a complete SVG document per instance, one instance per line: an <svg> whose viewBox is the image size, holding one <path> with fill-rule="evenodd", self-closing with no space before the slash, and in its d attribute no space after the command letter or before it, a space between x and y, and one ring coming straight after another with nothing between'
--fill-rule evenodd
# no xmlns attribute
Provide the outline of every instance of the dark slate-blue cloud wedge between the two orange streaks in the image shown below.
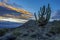
<svg viewBox="0 0 60 40"><path fill-rule="evenodd" d="M0 6L0 16L5 15L5 14L13 14L13 15L19 15L18 12L14 11L14 10L9 10L6 7L2 7Z"/></svg>

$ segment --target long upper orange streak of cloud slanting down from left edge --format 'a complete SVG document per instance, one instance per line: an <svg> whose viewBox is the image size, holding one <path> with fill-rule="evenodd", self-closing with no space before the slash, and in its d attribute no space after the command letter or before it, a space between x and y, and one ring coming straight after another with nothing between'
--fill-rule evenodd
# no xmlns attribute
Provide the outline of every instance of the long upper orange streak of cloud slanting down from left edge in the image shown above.
<svg viewBox="0 0 60 40"><path fill-rule="evenodd" d="M26 10L24 10L24 9L21 9L21 8L18 9L18 8L12 7L12 6L10 6L10 5L6 5L5 3L1 3L1 2L0 2L0 6L4 6L4 7L10 9L10 10L15 10L15 11L20 12L20 13L23 13L23 14L32 15L32 14L30 14L30 12L28 12L28 11L26 11Z"/></svg>

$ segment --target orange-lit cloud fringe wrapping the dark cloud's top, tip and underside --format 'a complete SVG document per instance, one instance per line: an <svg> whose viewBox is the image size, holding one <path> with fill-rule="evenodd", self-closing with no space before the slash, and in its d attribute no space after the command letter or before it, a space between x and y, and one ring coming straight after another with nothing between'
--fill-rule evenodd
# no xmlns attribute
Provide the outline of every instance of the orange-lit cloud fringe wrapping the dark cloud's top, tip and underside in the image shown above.
<svg viewBox="0 0 60 40"><path fill-rule="evenodd" d="M20 16L14 16L14 15L9 15L9 14L7 14L7 15L5 15L5 16L8 16L8 17L13 17L13 18L30 18L30 17L32 17L32 14L30 13L30 12L28 12L28 11L26 11L26 10L24 10L24 9L18 9L18 8L15 8L15 7L12 7L12 6L10 6L10 5L7 5L7 4L5 4L5 3L1 3L0 2L0 6L4 6L4 7L6 7L6 8L8 8L8 9L10 9L10 10L14 10L14 11L16 11L16 12L20 12L20 13L22 13L22 15L20 15Z"/></svg>

